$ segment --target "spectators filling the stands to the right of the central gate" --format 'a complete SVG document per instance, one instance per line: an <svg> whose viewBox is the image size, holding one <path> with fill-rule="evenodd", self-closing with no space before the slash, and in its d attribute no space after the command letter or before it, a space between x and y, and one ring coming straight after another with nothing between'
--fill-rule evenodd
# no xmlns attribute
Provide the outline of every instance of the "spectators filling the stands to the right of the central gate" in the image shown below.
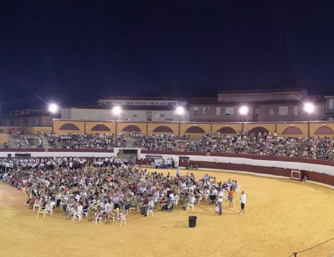
<svg viewBox="0 0 334 257"><path fill-rule="evenodd" d="M134 134L135 143L147 150L221 152L267 156L304 157L334 160L334 140L330 137L284 138L277 133L257 133L246 135L205 135L200 140L186 140L178 144L174 135Z"/></svg>

